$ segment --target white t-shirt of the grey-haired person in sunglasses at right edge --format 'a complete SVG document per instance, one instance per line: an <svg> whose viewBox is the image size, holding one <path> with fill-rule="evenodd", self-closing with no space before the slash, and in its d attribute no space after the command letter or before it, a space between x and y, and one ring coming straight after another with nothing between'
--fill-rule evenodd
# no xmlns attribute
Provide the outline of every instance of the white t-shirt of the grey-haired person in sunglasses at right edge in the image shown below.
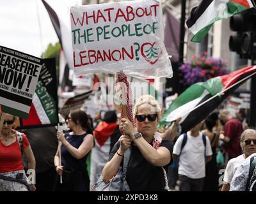
<svg viewBox="0 0 256 204"><path fill-rule="evenodd" d="M241 164L243 164L244 161L245 161L244 154L242 154L236 158L230 159L228 161L228 164L227 164L227 167L226 167L225 173L224 173L224 179L223 179L225 183L227 183L227 184L231 183L231 180L234 177L237 168Z"/></svg>

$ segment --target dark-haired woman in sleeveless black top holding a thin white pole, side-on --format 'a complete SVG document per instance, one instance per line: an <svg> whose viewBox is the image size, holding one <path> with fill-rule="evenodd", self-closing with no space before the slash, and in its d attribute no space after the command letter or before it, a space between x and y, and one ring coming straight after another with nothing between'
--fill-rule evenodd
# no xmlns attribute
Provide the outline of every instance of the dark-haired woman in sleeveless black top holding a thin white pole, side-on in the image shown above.
<svg viewBox="0 0 256 204"><path fill-rule="evenodd" d="M83 110L72 110L67 118L67 126L72 132L57 132L60 143L54 157L54 165L58 175L62 175L63 184L60 184L59 180L56 190L89 191L90 178L86 160L93 148L93 132L88 115Z"/></svg>

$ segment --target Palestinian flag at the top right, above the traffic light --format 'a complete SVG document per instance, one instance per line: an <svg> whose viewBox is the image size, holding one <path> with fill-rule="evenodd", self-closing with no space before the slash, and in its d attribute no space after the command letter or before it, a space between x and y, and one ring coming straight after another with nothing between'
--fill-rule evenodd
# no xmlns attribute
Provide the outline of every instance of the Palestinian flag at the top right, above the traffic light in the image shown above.
<svg viewBox="0 0 256 204"><path fill-rule="evenodd" d="M255 7L255 3L255 0L203 0L191 10L187 20L188 28L194 34L191 41L202 41L214 22Z"/></svg>

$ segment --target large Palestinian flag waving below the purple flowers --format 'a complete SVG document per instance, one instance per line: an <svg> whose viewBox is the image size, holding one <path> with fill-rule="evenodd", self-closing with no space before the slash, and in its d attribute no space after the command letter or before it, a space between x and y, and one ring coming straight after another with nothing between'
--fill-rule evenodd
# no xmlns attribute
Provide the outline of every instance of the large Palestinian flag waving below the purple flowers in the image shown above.
<svg viewBox="0 0 256 204"><path fill-rule="evenodd" d="M229 75L214 77L206 82L191 85L166 110L159 122L159 128L182 116L180 121L182 132L188 131L204 120L228 95L255 74L256 66L249 66ZM202 103L204 104L195 108Z"/></svg>

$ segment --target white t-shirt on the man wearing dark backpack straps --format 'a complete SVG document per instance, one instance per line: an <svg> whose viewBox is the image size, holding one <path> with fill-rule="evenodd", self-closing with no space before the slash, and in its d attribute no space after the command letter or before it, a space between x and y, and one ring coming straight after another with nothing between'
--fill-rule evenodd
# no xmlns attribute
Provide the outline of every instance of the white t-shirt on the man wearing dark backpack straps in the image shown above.
<svg viewBox="0 0 256 204"><path fill-rule="evenodd" d="M206 137L206 150L202 133L198 136L188 134L188 140L180 154L183 135L180 135L173 147L173 154L179 156L179 174L190 179L201 179L205 177L205 156L212 155L211 143Z"/></svg>

